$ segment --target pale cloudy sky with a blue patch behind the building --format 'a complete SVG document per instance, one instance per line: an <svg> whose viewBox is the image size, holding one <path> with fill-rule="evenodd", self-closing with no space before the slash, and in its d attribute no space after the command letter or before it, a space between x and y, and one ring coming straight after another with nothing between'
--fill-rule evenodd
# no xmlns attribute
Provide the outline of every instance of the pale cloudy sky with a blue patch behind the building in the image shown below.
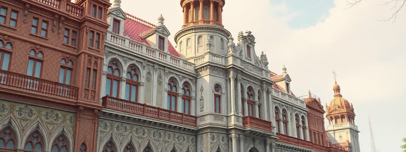
<svg viewBox="0 0 406 152"><path fill-rule="evenodd" d="M394 11L385 2L348 8L346 0L226 0L223 25L234 39L252 31L255 52L267 54L272 71L281 73L286 65L297 96L310 89L329 103L335 70L343 97L354 105L361 150L370 151L369 117L377 148L400 152L406 137L406 8L395 22L381 21ZM179 0L122 0L121 6L152 23L162 14L174 44L183 23Z"/></svg>

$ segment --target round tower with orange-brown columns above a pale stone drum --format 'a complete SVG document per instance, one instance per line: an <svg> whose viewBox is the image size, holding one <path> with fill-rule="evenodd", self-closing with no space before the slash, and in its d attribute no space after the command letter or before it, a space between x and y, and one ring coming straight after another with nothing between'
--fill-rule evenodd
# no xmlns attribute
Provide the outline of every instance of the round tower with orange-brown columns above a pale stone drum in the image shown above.
<svg viewBox="0 0 406 152"><path fill-rule="evenodd" d="M182 57L194 62L194 57L209 52L227 55L231 34L222 24L224 4L224 0L181 0L183 26L175 42Z"/></svg>

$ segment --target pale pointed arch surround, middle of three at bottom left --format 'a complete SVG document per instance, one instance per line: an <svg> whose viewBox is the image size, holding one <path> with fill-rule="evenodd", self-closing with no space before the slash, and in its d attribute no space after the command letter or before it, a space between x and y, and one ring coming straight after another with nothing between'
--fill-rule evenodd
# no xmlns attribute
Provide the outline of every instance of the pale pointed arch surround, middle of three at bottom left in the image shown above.
<svg viewBox="0 0 406 152"><path fill-rule="evenodd" d="M22 149L25 148L25 142L28 139L28 137L31 135L31 133L38 131L43 138L43 144L42 144L43 150L49 151L49 149L48 149L49 144L50 144L49 137L47 136L48 135L47 131L46 131L45 127L43 126L43 124L41 124L41 122L37 121L37 122L31 124L31 126L28 127L26 129L26 131L29 131L29 132L25 132L22 137L22 140L20 141L20 145L21 145Z"/></svg>

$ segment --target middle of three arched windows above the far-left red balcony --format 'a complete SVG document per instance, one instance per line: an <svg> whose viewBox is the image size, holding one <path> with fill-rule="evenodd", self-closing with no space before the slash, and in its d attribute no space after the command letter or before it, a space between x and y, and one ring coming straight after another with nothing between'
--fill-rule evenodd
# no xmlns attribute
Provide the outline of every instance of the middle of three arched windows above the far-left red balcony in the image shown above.
<svg viewBox="0 0 406 152"><path fill-rule="evenodd" d="M44 53L34 49L29 51L27 75L40 78L42 71L42 63L44 61Z"/></svg>

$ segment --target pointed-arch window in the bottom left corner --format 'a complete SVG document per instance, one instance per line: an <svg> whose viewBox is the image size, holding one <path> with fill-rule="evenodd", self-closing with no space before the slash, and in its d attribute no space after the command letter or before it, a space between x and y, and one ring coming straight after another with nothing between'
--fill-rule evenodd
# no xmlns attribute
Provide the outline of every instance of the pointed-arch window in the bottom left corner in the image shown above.
<svg viewBox="0 0 406 152"><path fill-rule="evenodd" d="M0 131L0 149L15 149L16 141L16 134L10 127L7 127Z"/></svg>

